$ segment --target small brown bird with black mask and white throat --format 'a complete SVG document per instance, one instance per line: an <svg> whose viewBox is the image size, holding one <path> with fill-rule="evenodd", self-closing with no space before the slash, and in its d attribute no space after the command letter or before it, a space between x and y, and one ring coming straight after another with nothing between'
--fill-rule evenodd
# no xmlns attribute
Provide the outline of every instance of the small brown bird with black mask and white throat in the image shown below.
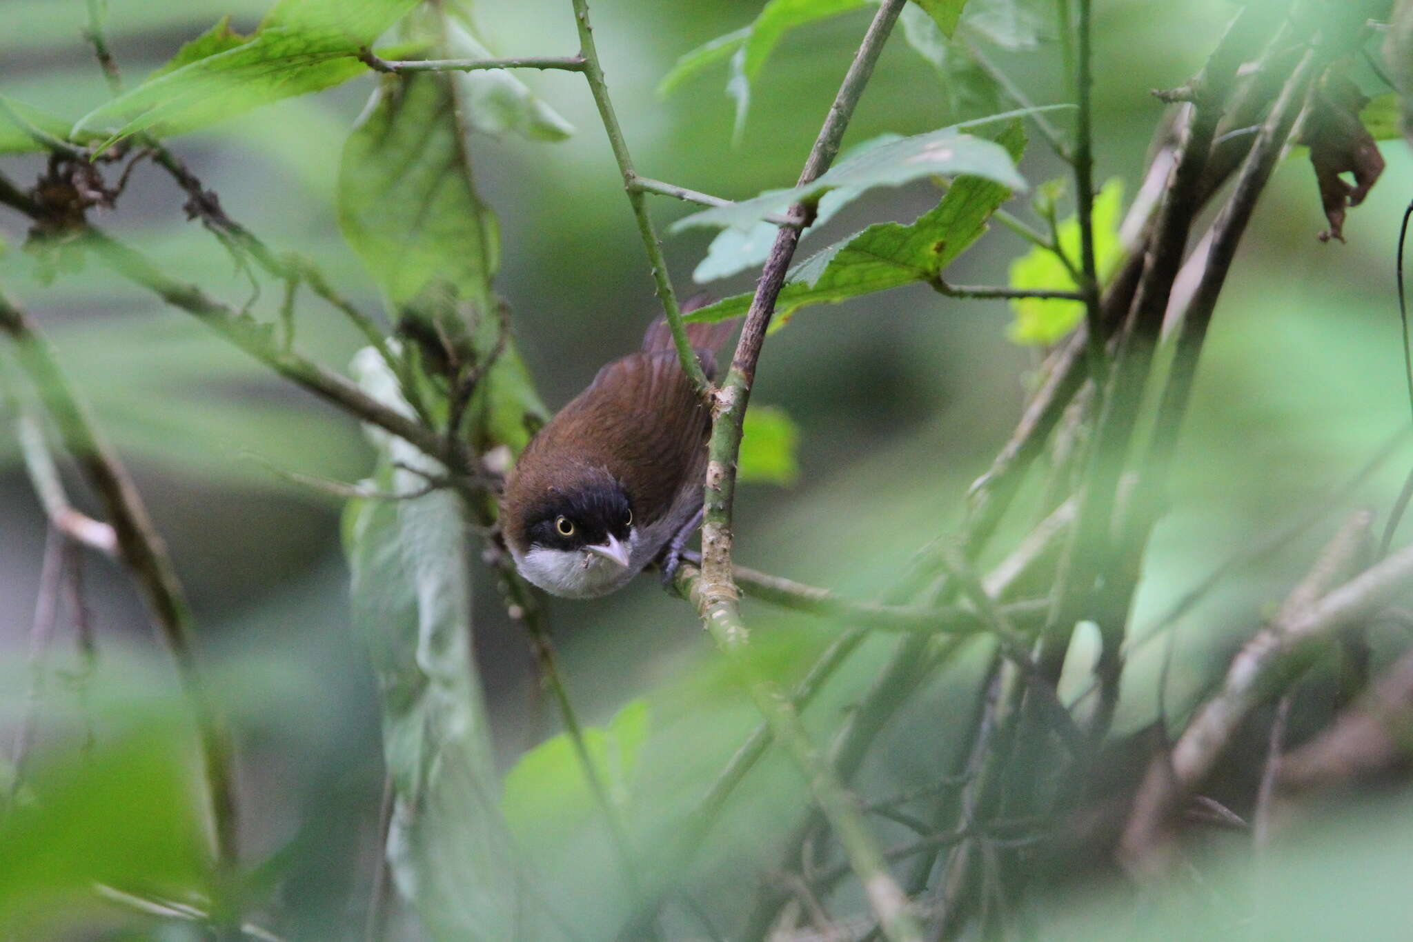
<svg viewBox="0 0 1413 942"><path fill-rule="evenodd" d="M732 328L688 325L708 378ZM592 599L681 549L699 523L709 434L709 408L658 319L643 349L599 370L510 472L500 521L520 575L551 595Z"/></svg>

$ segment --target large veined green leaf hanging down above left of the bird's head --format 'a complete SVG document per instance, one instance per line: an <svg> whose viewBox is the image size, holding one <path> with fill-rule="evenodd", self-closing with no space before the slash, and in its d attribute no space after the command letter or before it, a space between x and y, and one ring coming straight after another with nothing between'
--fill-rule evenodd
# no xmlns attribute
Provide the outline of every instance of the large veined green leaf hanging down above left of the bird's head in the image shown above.
<svg viewBox="0 0 1413 942"><path fill-rule="evenodd" d="M456 89L447 75L380 83L343 147L339 226L394 321L465 338L476 357L500 350L468 408L472 443L519 451L530 439L527 417L543 415L544 405L514 345L502 345L490 285L500 233L472 184Z"/></svg>

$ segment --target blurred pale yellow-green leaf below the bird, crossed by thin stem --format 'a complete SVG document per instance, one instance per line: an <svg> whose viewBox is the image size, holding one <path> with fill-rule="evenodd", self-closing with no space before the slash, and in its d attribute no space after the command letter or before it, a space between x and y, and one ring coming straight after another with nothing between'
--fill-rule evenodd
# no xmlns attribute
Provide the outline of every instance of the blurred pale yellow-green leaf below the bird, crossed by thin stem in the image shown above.
<svg viewBox="0 0 1413 942"><path fill-rule="evenodd" d="M625 811L630 808L647 730L649 708L644 699L625 705L608 726L586 726L582 730L584 746L609 792L609 801ZM536 835L562 837L602 818L567 733L540 743L520 757L506 775L500 806L510 830L524 840L533 840Z"/></svg>

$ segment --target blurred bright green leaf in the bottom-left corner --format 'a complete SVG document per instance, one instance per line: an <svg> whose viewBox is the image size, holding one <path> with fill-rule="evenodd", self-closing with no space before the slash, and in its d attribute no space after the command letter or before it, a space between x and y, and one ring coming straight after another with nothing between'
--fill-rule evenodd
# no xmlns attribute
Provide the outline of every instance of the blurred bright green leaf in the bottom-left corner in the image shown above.
<svg viewBox="0 0 1413 942"><path fill-rule="evenodd" d="M162 723L31 780L34 801L8 813L0 854L8 932L40 938L18 924L82 904L93 883L174 898L208 888L188 746L181 726Z"/></svg>

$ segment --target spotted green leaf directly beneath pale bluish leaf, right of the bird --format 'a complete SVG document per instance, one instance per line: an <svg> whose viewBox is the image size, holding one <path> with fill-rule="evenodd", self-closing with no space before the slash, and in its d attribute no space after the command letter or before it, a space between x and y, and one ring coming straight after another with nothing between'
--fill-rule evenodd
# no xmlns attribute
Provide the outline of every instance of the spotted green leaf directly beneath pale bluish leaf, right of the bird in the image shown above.
<svg viewBox="0 0 1413 942"><path fill-rule="evenodd" d="M1007 161L1026 145L1020 123L998 137ZM1007 199L1009 186L983 177L958 177L931 212L911 225L879 223L829 246L797 266L776 301L776 326L800 308L846 301L927 281L950 266L986 232L986 220ZM688 315L688 321L723 321L743 314L750 294L736 295Z"/></svg>

